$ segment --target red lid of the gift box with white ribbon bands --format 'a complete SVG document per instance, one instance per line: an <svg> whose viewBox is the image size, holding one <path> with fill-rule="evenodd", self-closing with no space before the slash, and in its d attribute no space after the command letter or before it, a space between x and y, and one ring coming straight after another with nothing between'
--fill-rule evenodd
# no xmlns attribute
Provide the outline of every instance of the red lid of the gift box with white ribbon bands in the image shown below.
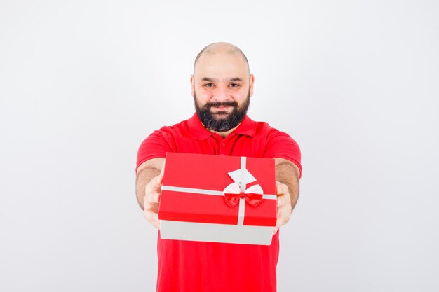
<svg viewBox="0 0 439 292"><path fill-rule="evenodd" d="M238 198L225 200L227 186L241 182L244 190L262 188L254 207ZM243 186L242 186L243 185ZM236 187L236 186L235 186ZM238 186L239 187L239 186ZM239 192L240 190L238 190ZM227 192L226 192L227 193ZM250 191L251 193L251 191ZM257 196L257 195L255 195ZM166 153L158 218L168 221L230 225L276 225L275 163L269 158Z"/></svg>

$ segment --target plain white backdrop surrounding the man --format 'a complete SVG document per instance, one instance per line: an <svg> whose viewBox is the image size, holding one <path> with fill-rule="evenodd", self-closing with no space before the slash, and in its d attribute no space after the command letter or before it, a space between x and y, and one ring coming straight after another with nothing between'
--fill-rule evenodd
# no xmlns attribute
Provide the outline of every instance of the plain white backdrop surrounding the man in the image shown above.
<svg viewBox="0 0 439 292"><path fill-rule="evenodd" d="M278 291L439 290L438 1L0 1L0 291L154 291L137 148L208 43L302 149Z"/></svg>

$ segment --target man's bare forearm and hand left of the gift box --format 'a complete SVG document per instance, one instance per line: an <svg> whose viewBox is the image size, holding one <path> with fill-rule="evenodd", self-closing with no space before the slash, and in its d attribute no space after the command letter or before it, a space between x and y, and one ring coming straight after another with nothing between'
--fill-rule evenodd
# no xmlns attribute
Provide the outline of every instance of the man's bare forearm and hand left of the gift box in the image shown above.
<svg viewBox="0 0 439 292"><path fill-rule="evenodd" d="M165 158L152 158L137 168L135 190L137 202L144 210L143 216L155 228L160 229L158 221L158 202L160 202L161 181Z"/></svg>

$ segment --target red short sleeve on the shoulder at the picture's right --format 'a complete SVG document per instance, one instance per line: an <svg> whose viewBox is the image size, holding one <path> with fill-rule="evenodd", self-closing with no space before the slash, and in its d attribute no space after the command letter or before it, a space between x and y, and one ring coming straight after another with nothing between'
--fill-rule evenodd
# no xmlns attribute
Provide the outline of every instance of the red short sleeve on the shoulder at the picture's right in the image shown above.
<svg viewBox="0 0 439 292"><path fill-rule="evenodd" d="M297 165L300 172L299 177L302 177L302 156L299 145L287 133L276 131L269 135L264 158L284 158L290 160Z"/></svg>

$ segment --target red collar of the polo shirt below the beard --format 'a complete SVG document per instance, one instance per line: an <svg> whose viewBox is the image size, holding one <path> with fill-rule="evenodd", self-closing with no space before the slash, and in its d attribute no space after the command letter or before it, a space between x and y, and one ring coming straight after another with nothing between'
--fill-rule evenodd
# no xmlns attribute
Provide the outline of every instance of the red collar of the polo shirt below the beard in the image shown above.
<svg viewBox="0 0 439 292"><path fill-rule="evenodd" d="M191 134L193 134L194 137L198 140L208 139L208 137L212 135L212 132L210 132L203 126L200 118L198 118L198 115L196 113L194 113L194 116L189 118L187 123ZM256 123L247 115L245 115L241 124L234 130L234 132L231 132L231 134L243 134L254 137L256 134Z"/></svg>

